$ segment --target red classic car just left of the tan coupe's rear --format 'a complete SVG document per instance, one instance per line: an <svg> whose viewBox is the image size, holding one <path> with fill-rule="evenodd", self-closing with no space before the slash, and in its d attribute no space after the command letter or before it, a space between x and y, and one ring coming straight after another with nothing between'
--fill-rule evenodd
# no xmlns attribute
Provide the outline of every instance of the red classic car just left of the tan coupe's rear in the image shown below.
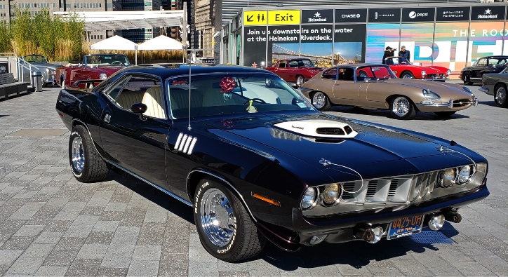
<svg viewBox="0 0 508 277"><path fill-rule="evenodd" d="M311 60L306 58L279 60L272 67L265 69L279 75L279 77L288 83L295 83L298 88L305 81L323 71L322 68L316 67Z"/></svg>

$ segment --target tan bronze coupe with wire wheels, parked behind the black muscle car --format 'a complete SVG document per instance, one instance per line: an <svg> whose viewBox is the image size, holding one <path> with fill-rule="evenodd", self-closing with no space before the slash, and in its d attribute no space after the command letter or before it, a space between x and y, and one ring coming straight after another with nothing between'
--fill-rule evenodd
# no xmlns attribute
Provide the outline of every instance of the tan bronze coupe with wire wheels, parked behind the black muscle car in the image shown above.
<svg viewBox="0 0 508 277"><path fill-rule="evenodd" d="M478 104L469 88L398 79L388 65L377 64L332 67L304 83L302 93L321 111L333 104L389 109L395 119L412 119L419 111L451 116Z"/></svg>

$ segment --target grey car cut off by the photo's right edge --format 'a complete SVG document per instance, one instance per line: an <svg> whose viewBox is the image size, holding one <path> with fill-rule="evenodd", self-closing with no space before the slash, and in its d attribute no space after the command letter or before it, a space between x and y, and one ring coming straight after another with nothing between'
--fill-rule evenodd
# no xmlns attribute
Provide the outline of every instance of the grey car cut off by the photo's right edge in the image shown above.
<svg viewBox="0 0 508 277"><path fill-rule="evenodd" d="M494 95L494 102L497 107L507 108L507 85L508 85L508 67L505 67L501 73L483 74L480 90L488 95Z"/></svg>

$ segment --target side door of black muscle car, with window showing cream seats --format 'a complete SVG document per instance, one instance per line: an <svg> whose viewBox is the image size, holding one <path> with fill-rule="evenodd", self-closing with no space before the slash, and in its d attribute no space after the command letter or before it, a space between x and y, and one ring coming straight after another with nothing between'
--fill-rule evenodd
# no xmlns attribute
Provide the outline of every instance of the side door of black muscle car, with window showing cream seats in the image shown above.
<svg viewBox="0 0 508 277"><path fill-rule="evenodd" d="M110 161L168 189L164 151L171 121L159 76L128 73L103 96L108 105L102 112L100 137ZM147 105L142 116L131 111L134 103Z"/></svg>

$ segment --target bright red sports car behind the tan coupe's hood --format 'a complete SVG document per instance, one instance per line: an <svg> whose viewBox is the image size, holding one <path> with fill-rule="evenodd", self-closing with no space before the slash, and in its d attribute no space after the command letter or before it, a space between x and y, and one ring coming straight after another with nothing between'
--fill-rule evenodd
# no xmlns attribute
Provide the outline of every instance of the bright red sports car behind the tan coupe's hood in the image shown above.
<svg viewBox="0 0 508 277"><path fill-rule="evenodd" d="M425 79L432 81L446 81L451 70L446 67L412 65L405 63L402 57L389 57L385 59L385 65L389 65L395 75L401 79Z"/></svg>

